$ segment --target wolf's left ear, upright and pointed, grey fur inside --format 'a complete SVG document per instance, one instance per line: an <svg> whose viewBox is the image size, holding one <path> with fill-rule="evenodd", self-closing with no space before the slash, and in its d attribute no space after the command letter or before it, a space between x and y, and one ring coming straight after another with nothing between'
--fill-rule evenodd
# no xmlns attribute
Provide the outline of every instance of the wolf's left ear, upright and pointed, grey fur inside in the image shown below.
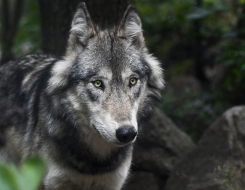
<svg viewBox="0 0 245 190"><path fill-rule="evenodd" d="M95 34L94 24L85 3L80 3L72 20L68 50L86 46L89 38Z"/></svg>

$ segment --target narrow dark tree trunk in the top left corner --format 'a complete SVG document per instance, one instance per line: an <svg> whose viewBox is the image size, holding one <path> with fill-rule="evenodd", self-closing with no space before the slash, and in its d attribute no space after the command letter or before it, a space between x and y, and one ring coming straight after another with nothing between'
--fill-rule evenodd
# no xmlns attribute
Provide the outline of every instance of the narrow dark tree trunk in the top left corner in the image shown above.
<svg viewBox="0 0 245 190"><path fill-rule="evenodd" d="M13 8L11 8L13 7ZM23 0L2 0L1 18L2 18L2 58L0 65L14 58L12 47L18 30Z"/></svg>

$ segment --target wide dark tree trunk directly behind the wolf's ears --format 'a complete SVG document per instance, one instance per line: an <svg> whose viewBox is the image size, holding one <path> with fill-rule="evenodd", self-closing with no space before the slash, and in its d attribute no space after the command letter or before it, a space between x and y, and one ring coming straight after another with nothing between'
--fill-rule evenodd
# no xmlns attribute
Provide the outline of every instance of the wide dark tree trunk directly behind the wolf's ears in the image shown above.
<svg viewBox="0 0 245 190"><path fill-rule="evenodd" d="M81 0L38 0L42 27L42 51L64 55L71 21ZM85 0L93 21L101 26L117 23L129 0Z"/></svg>

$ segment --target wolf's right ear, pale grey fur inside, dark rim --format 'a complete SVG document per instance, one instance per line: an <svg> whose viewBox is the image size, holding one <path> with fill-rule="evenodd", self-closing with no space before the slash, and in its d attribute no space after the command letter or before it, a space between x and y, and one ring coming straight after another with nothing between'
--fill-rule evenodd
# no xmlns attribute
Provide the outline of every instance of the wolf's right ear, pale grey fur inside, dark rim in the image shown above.
<svg viewBox="0 0 245 190"><path fill-rule="evenodd" d="M129 5L124 13L123 19L118 28L118 36L134 42L144 44L142 23L139 12L133 5Z"/></svg>

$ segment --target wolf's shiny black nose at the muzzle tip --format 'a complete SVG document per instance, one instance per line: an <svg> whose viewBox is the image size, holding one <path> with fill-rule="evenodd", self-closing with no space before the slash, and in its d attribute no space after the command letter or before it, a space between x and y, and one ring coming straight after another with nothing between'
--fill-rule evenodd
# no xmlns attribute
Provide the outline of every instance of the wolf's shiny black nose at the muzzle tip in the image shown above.
<svg viewBox="0 0 245 190"><path fill-rule="evenodd" d="M134 140L137 131L133 126L122 126L116 131L117 139L121 143L128 143Z"/></svg>

